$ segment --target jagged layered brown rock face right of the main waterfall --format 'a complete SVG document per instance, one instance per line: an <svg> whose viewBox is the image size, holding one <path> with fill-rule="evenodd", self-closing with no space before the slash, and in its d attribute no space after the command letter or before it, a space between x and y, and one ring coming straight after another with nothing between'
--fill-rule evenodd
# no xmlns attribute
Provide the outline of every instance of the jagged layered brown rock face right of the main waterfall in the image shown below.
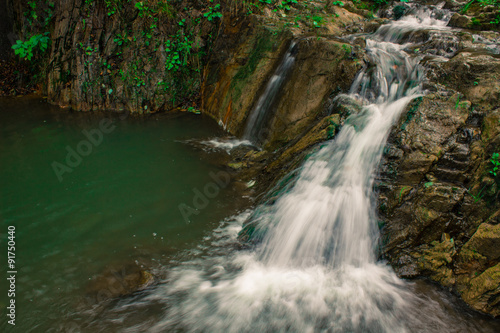
<svg viewBox="0 0 500 333"><path fill-rule="evenodd" d="M497 33L457 32L429 67L429 93L393 129L378 177L383 255L402 277L428 276L500 315L500 60Z"/></svg>

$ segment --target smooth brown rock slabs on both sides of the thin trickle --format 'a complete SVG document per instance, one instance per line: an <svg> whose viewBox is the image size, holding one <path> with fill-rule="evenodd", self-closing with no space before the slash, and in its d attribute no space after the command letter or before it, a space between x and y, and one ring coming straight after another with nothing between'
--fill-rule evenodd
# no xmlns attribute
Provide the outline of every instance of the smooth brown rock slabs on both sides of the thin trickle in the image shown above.
<svg viewBox="0 0 500 333"><path fill-rule="evenodd" d="M249 112L294 41L296 60L278 92L271 110L274 116L264 125L261 141L267 147L281 146L334 112L327 104L348 91L364 64L364 51L331 35L339 34L339 26L345 22L359 23L362 17L340 8L333 10L342 19L325 23L315 36L295 29L277 33L266 17L226 25L207 67L203 110L228 132L242 134Z"/></svg>

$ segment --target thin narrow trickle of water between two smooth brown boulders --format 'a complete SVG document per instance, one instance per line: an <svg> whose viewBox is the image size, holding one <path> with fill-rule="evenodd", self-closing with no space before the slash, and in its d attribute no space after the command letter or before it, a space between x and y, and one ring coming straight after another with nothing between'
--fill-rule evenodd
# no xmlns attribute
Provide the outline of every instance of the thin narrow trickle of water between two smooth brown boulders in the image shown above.
<svg viewBox="0 0 500 333"><path fill-rule="evenodd" d="M279 96L278 93L283 87L286 77L290 73L295 62L297 53L296 45L294 41L290 43L276 71L267 82L264 92L250 111L243 133L243 140L249 140L253 143L260 144L266 139L266 121L272 117L272 107L277 101L277 97Z"/></svg>

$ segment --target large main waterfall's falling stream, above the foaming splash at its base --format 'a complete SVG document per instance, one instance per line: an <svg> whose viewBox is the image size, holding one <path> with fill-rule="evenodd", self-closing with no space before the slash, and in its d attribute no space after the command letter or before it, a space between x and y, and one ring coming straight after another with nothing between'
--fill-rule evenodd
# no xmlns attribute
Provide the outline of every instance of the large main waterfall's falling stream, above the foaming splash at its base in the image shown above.
<svg viewBox="0 0 500 333"><path fill-rule="evenodd" d="M411 58L404 32L442 28L446 21L421 12L381 27L366 40L374 66L358 74L351 95L365 102L334 141L303 167L296 184L266 213L269 231L261 258L270 265L356 267L375 261L377 223L372 193L376 167L391 126L421 94L423 68Z"/></svg>

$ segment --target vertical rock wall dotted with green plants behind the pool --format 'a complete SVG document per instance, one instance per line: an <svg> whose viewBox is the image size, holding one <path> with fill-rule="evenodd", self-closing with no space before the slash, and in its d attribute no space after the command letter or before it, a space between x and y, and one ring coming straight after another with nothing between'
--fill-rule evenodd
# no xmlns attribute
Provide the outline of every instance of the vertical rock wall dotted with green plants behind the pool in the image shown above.
<svg viewBox="0 0 500 333"><path fill-rule="evenodd" d="M37 61L51 102L81 111L150 113L196 101L220 21L204 16L208 7L201 2L56 0L30 6L11 0L9 9L21 40L50 33L51 48Z"/></svg>

